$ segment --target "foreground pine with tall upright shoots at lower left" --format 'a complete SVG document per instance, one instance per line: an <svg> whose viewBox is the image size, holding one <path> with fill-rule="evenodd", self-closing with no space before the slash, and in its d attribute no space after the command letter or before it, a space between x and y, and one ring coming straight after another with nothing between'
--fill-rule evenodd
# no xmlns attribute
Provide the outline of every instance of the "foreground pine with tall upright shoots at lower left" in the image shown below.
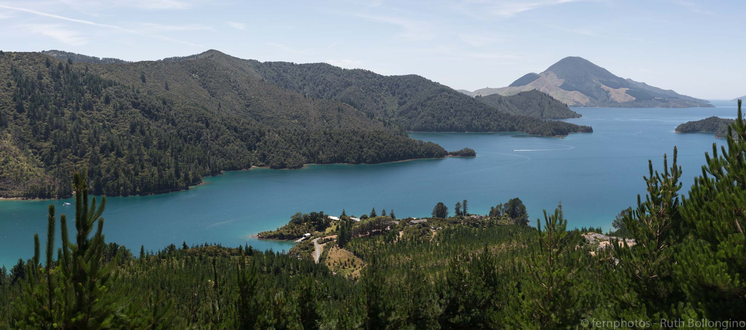
<svg viewBox="0 0 746 330"><path fill-rule="evenodd" d="M81 172L86 173L85 168ZM60 215L60 238L62 248L57 252L54 270L54 207L48 209L46 270L43 275L39 264L39 237L34 235L34 258L29 267L28 283L24 284L26 299L19 300L14 317L16 328L40 329L54 322L60 329L120 329L128 325L157 322L144 318L164 314L147 315L142 312L146 304L131 305L132 292L117 291L119 258L104 263L104 218L106 197L96 207L96 200L89 202L85 178L75 171L75 244L69 241L66 215ZM91 236L94 226L95 234ZM32 283L33 282L33 283ZM54 293L53 293L54 292ZM128 296L125 296L127 294ZM29 296L30 295L30 296ZM144 302L144 301L143 301ZM128 314L122 311L126 310Z"/></svg>

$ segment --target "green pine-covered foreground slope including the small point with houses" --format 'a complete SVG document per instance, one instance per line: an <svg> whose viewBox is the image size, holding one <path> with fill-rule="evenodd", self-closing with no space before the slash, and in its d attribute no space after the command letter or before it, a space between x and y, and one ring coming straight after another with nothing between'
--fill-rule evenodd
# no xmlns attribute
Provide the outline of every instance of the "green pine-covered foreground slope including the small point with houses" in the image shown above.
<svg viewBox="0 0 746 330"><path fill-rule="evenodd" d="M293 225L326 227L313 234L328 235L318 264L309 242L293 253L183 242L134 256L104 240L105 197L91 199L75 173L75 229L50 205L48 240L34 235L34 256L0 268L0 329L742 329L740 107L737 139L712 145L686 197L675 147L648 162L645 196L624 197L632 206L615 220L633 241L607 244L568 229L561 203L527 226L513 198L484 216L466 200L454 216L437 203L418 220L295 215Z"/></svg>

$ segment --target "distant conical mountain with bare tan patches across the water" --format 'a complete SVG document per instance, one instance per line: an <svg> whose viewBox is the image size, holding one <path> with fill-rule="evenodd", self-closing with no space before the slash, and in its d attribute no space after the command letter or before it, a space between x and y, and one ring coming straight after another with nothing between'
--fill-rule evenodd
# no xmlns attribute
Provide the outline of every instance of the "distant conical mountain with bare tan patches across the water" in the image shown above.
<svg viewBox="0 0 746 330"><path fill-rule="evenodd" d="M565 57L544 72L525 74L507 87L465 94L509 96L532 89L574 107L713 107L706 100L618 77L583 57Z"/></svg>

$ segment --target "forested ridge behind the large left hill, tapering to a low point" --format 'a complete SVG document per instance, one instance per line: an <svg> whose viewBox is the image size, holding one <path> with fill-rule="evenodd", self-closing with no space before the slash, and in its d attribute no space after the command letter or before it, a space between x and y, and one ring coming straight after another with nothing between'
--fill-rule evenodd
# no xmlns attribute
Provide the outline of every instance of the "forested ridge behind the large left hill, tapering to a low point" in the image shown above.
<svg viewBox="0 0 746 330"><path fill-rule="evenodd" d="M327 63L247 62L277 86L313 98L342 101L369 115L404 124L407 130L518 131L546 136L592 131L590 127L513 115L415 74L384 76Z"/></svg>

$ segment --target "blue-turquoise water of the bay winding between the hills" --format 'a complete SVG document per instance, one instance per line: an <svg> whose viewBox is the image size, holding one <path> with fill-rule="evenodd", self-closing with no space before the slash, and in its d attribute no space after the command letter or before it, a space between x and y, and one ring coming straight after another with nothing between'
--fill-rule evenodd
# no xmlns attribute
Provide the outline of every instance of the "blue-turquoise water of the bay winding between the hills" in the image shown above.
<svg viewBox="0 0 746 330"><path fill-rule="evenodd" d="M679 147L684 187L700 173L703 153L724 143L709 133L674 133L685 121L710 115L734 118L733 102L716 108L578 108L594 133L565 139L522 133L411 133L448 150L471 147L477 157L421 159L378 165L309 165L301 170L228 172L209 177L188 191L136 197L110 197L104 212L107 241L135 253L144 244L158 250L170 243L253 245L287 250L292 244L251 238L275 229L295 212L362 215L375 207L399 218L428 215L442 201L451 208L468 200L469 212L520 197L533 222L542 209L562 207L570 226L608 229L614 216L644 193L648 159L660 168L663 153ZM686 191L684 191L686 192ZM74 212L72 200L0 200L0 264L30 258L34 232L46 236L46 205L57 214ZM72 225L71 225L72 227ZM57 226L59 228L59 226ZM74 227L73 227L74 228Z"/></svg>

